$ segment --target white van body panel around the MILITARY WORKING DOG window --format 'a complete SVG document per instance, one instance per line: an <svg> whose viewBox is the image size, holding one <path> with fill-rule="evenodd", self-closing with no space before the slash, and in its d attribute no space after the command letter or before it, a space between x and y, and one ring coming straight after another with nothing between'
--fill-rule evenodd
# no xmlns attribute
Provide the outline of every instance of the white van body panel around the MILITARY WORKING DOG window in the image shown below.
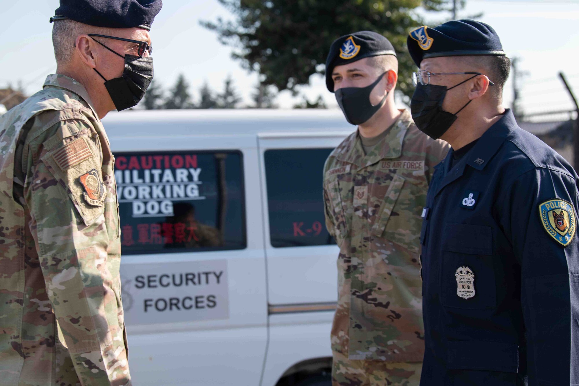
<svg viewBox="0 0 579 386"><path fill-rule="evenodd" d="M139 300L135 301L134 307L147 307L143 305L146 299L138 292L145 286L143 283L146 283L147 275L153 278L153 289L148 288L147 297L153 298L155 285L159 285L162 274L178 274L179 270L197 272L196 267L200 267L198 271L203 271L204 267L217 267L207 268L207 271L227 272L226 314L218 313L215 319L203 319L192 309L188 311L193 313L188 320L182 317L182 310L181 316L177 317L175 310L171 311L175 316L171 316L168 310L155 311L154 302L153 306L149 302L147 311L140 314L141 319L127 319L129 360L134 383L144 386L258 385L267 344L267 287L259 176L253 172L259 170L255 136L171 137L170 128L159 128L159 134L154 137L134 137L125 135L122 128L115 130L114 125L111 126L114 133L111 136L113 153L241 151L243 159L245 249L130 254L122 257L123 281L133 279L132 285L135 285L134 279L140 276L140 288L126 287L127 291L132 291L134 299ZM191 132L211 133L211 127L192 127ZM202 204L196 204L197 210L200 210L198 205ZM166 283L167 276L163 280ZM200 286L197 289L184 286L171 288L159 288L160 297L183 299L188 295L193 299L188 300L188 305L195 304L194 295L202 290ZM183 303L179 304L182 306Z"/></svg>

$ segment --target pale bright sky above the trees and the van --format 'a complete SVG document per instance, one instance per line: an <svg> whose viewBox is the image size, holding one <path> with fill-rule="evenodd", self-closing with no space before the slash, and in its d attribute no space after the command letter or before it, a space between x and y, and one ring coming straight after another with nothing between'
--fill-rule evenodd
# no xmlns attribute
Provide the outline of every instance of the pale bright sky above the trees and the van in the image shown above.
<svg viewBox="0 0 579 386"><path fill-rule="evenodd" d="M56 69L48 19L57 7L57 0L36 0L34 6L24 1L5 2L0 23L0 88L21 81L32 93L41 88L45 75ZM499 34L508 56L520 59L520 69L526 74L522 78L525 112L572 108L557 74L564 71L579 94L579 0L467 0L459 17L479 12L483 12L480 20ZM203 82L221 89L230 74L244 103L250 103L257 75L243 70L230 58L230 48L222 46L214 32L199 26L199 20L218 16L230 17L217 0L166 0L152 30L155 78L171 86L178 74L185 74L196 99ZM313 76L302 92L312 100L322 95L329 105L336 105L319 76ZM505 104L510 105L511 100L509 83ZM288 92L277 100L281 107L298 101Z"/></svg>

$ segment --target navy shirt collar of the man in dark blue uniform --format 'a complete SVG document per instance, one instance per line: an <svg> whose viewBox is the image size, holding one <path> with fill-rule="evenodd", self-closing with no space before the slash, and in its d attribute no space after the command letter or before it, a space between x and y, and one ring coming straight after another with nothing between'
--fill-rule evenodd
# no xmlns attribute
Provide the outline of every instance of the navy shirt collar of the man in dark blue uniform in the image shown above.
<svg viewBox="0 0 579 386"><path fill-rule="evenodd" d="M494 154L496 154L512 129L516 126L515 115L512 114L510 108L505 109L505 113L501 119L490 126L490 128L482 134L477 144L464 155L463 158L466 159L467 165L477 170L485 169L490 159L493 158Z"/></svg>

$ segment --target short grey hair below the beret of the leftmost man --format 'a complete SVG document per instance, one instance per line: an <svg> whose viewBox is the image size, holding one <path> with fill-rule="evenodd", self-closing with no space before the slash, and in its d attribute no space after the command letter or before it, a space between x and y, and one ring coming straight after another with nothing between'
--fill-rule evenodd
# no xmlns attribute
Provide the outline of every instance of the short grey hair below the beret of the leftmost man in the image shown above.
<svg viewBox="0 0 579 386"><path fill-rule="evenodd" d="M56 64L68 63L72 59L76 38L80 35L111 35L112 28L89 26L74 20L56 20L52 27L52 45Z"/></svg>

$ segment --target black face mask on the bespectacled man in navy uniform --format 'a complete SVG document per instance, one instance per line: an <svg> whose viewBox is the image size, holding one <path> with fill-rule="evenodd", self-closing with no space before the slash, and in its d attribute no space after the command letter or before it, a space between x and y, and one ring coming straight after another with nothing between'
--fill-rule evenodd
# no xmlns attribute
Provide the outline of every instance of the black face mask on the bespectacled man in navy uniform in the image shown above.
<svg viewBox="0 0 579 386"><path fill-rule="evenodd" d="M477 77L468 78L466 81ZM452 126L456 121L456 114L459 114L463 108L467 107L472 100L469 100L459 111L452 114L448 111L442 110L442 102L446 96L446 92L463 84L460 82L458 85L452 86L451 88L446 88L446 86L437 86L428 84L426 86L418 83L416 85L416 90L412 95L412 100L410 102L410 111L412 112L412 119L416 123L416 127L431 137L432 139L439 139L442 134L446 133L446 130Z"/></svg>

